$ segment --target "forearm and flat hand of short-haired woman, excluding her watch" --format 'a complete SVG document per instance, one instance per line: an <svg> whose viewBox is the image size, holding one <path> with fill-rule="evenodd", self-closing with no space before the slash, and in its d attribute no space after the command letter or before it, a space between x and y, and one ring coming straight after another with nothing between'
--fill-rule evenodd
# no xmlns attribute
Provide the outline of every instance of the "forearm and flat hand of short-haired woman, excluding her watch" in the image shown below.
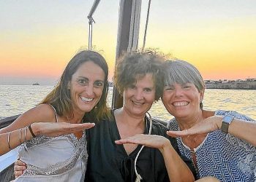
<svg viewBox="0 0 256 182"><path fill-rule="evenodd" d="M220 130L222 127L223 116L211 116L204 119L202 122L195 124L188 130L182 131L167 131L167 135L171 137L187 136L213 132L214 130ZM256 146L256 122L248 122L242 119L233 119L233 122L228 127L228 133L234 135L236 138L240 138L252 146Z"/></svg>

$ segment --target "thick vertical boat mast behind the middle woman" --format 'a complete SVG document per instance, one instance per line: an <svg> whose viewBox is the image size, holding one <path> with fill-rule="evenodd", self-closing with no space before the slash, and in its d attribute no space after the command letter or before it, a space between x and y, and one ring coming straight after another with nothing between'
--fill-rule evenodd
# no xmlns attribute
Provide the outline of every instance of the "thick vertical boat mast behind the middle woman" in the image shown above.
<svg viewBox="0 0 256 182"><path fill-rule="evenodd" d="M120 0L118 16L118 36L116 63L124 52L138 50L140 30L141 0ZM121 108L123 99L116 87L113 88L112 108Z"/></svg>

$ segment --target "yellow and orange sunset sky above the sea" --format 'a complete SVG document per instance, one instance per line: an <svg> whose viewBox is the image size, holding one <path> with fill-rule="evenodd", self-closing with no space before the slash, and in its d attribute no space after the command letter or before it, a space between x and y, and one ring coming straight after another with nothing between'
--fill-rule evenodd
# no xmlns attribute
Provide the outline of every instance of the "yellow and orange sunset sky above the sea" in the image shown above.
<svg viewBox="0 0 256 182"><path fill-rule="evenodd" d="M0 84L55 84L88 46L92 0L0 1ZM94 14L93 45L115 64L118 0ZM143 0L140 46L148 0ZM194 64L204 79L256 78L255 0L152 0L146 47Z"/></svg>

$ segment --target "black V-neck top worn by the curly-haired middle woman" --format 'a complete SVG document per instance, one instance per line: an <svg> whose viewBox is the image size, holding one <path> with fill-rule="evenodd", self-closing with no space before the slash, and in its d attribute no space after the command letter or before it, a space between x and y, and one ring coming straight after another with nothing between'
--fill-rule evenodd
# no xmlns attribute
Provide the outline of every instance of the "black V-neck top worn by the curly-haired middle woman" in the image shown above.
<svg viewBox="0 0 256 182"><path fill-rule="evenodd" d="M148 134L149 121L146 118ZM153 120L152 135L162 135L170 140L178 154L178 146L175 138L167 134L167 127ZM135 157L141 146L138 146L131 154L127 155L123 145L117 145L116 140L121 139L116 121L102 120L95 127L87 130L89 159L85 181L135 181ZM193 171L192 162L184 159ZM144 147L137 161L137 171L143 178L142 181L169 181L165 161L159 149Z"/></svg>

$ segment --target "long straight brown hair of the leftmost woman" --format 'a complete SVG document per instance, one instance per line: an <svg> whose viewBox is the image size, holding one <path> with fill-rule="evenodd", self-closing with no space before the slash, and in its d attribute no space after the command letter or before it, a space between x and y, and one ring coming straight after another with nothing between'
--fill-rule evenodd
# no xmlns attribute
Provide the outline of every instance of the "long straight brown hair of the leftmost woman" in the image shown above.
<svg viewBox="0 0 256 182"><path fill-rule="evenodd" d="M92 61L97 64L105 73L105 83L102 91L102 97L97 103L97 107L94 107L89 113L84 116L84 121L93 119L91 122L99 121L103 118L109 118L110 109L107 107L107 95L108 95L108 65L105 58L98 52L91 50L83 50L78 52L67 64L61 79L54 89L42 100L41 103L49 103L54 108L59 116L73 116L72 100L70 97L70 90L68 89L68 83L72 79L72 75L78 70L79 66L86 61ZM89 121L90 122L90 121Z"/></svg>

